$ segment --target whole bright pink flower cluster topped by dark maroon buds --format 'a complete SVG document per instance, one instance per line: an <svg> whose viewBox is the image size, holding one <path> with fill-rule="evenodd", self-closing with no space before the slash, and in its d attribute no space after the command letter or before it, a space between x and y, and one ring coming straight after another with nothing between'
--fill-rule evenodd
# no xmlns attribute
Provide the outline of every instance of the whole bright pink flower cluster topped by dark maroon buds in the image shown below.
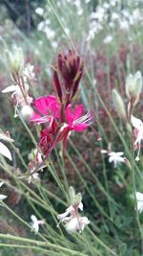
<svg viewBox="0 0 143 256"><path fill-rule="evenodd" d="M31 122L44 126L39 141L39 150L44 156L49 156L60 141L65 150L72 130L82 132L92 128L92 111L84 114L83 105L77 105L74 109L72 105L82 74L83 61L73 51L70 50L67 55L58 55L53 68L53 84L57 96L40 97L33 103ZM94 128L93 131L97 134Z"/></svg>

